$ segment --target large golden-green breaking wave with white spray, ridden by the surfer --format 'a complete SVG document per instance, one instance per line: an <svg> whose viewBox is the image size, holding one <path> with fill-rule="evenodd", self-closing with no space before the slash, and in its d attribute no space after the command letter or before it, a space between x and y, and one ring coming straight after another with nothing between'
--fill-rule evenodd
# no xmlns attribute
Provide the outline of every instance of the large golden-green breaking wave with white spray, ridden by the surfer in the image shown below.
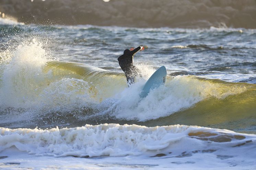
<svg viewBox="0 0 256 170"><path fill-rule="evenodd" d="M123 73L56 61L35 39L2 55L6 57L0 69L0 123L5 126L25 121L24 115L30 117L28 121L59 116L71 124L78 119L92 124L141 122L156 126L179 122L211 126L238 119L248 121L255 114L255 84L168 76L165 86L141 100L140 90L155 70L147 65L138 66L143 78L128 88ZM192 117L190 113L194 113ZM217 115L219 119L209 119Z"/></svg>

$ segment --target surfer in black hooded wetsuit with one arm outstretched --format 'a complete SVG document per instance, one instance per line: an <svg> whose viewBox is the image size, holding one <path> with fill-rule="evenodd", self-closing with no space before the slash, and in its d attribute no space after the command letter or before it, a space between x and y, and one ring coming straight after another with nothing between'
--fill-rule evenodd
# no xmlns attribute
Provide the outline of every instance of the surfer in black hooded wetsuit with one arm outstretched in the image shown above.
<svg viewBox="0 0 256 170"><path fill-rule="evenodd" d="M130 50L126 49L123 55L120 55L117 60L121 67L121 69L125 72L125 76L127 79L128 86L129 84L134 83L135 77L139 73L139 69L133 65L133 56L139 52L144 50L144 47L139 46L136 49L131 48Z"/></svg>

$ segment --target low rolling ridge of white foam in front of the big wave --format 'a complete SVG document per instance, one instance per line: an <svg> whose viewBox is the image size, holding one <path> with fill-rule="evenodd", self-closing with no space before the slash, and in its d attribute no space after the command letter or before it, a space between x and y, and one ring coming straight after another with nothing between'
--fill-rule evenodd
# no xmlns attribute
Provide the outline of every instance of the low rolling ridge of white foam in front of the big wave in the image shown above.
<svg viewBox="0 0 256 170"><path fill-rule="evenodd" d="M179 156L184 152L203 152L205 148L212 149L214 154L231 154L241 145L255 150L255 141L255 135L181 125L150 128L101 124L49 130L0 128L0 151L15 146L29 154L57 157L155 156L170 153L171 156ZM244 154L240 153L240 156Z"/></svg>

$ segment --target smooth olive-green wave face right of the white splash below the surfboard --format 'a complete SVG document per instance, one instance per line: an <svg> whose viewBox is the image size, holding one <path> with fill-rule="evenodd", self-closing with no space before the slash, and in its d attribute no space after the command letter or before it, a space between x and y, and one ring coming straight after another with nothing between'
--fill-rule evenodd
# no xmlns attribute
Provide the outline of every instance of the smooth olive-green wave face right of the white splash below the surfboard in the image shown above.
<svg viewBox="0 0 256 170"><path fill-rule="evenodd" d="M222 97L210 95L189 108L180 110L167 117L153 121L150 120L147 124L150 126L155 124L159 126L170 124L199 125L255 133L255 84L206 79L201 79L201 81L213 83L214 86L218 87L215 90L219 91L220 94L230 94L225 94ZM230 89L237 93L230 92Z"/></svg>

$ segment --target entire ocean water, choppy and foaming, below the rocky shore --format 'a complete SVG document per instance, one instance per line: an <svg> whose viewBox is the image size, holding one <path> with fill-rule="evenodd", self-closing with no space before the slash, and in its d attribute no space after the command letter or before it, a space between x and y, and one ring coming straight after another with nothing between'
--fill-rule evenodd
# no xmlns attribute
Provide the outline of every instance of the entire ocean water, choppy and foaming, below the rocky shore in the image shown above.
<svg viewBox="0 0 256 170"><path fill-rule="evenodd" d="M128 88L117 57L141 45ZM0 168L256 169L255 52L255 29L1 19Z"/></svg>

